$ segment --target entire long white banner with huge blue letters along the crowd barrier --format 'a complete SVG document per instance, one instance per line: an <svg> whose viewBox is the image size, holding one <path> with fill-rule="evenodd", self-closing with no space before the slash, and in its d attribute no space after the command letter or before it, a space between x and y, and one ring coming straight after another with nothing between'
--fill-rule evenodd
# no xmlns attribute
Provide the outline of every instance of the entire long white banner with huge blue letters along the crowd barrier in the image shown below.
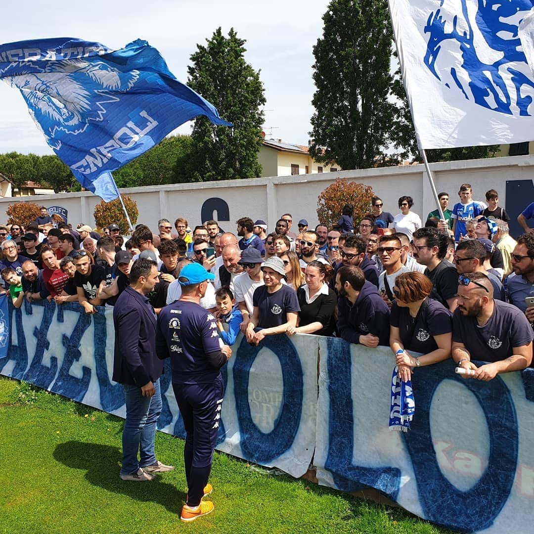
<svg viewBox="0 0 534 534"><path fill-rule="evenodd" d="M0 299L0 373L124 417L111 381L113 313L78 304ZM317 362L319 361L319 380ZM534 521L534 370L491 382L462 380L452 360L415 371L407 433L388 431L387 348L313 335L241 336L223 368L217 449L295 477L317 467L320 484L372 487L403 508L462 532L529 532ZM184 436L161 378L158 428Z"/></svg>

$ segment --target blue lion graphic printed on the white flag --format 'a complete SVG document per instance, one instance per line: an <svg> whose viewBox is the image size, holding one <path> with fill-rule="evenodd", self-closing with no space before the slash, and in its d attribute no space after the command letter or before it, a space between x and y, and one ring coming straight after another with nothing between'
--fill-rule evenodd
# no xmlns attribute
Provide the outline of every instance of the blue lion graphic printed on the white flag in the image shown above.
<svg viewBox="0 0 534 534"><path fill-rule="evenodd" d="M451 84L442 78L450 75L464 97L480 106L508 115L532 115L534 81L517 29L533 5L534 0L441 0L425 26L425 65L448 88ZM447 54L454 56L456 66L450 67ZM436 64L440 60L442 68Z"/></svg>

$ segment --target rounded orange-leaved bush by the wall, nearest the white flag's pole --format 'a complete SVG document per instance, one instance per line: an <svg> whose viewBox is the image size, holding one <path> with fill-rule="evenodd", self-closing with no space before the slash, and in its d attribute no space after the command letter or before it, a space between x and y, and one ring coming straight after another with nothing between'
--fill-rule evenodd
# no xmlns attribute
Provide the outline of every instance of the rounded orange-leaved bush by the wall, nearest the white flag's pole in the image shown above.
<svg viewBox="0 0 534 534"><path fill-rule="evenodd" d="M371 211L373 189L369 185L348 182L346 178L336 178L317 199L317 217L328 226L336 224L341 217L343 206L350 203L354 206L354 227Z"/></svg>

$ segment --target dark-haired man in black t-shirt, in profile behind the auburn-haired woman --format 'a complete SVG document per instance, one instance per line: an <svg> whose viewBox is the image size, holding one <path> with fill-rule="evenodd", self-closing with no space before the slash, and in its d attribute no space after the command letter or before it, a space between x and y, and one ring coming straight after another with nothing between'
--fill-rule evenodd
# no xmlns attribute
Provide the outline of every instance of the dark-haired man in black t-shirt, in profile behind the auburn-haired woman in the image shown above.
<svg viewBox="0 0 534 534"><path fill-rule="evenodd" d="M458 273L444 258L449 248L449 235L435 228L423 227L413 233L414 257L426 265L425 276L432 282L430 298L450 311L457 307Z"/></svg>

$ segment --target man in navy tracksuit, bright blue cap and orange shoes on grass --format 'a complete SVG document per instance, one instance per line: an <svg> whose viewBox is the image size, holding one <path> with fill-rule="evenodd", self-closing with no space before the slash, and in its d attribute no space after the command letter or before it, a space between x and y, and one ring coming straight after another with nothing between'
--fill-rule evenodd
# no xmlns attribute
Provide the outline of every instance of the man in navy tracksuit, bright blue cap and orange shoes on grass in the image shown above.
<svg viewBox="0 0 534 534"><path fill-rule="evenodd" d="M223 380L220 368L232 350L219 341L215 317L200 306L200 299L213 274L199 263L185 265L178 281L179 300L164 307L158 317L156 352L170 357L172 388L186 431L184 462L187 502L180 519L193 521L213 511L208 477L215 449L221 408Z"/></svg>

